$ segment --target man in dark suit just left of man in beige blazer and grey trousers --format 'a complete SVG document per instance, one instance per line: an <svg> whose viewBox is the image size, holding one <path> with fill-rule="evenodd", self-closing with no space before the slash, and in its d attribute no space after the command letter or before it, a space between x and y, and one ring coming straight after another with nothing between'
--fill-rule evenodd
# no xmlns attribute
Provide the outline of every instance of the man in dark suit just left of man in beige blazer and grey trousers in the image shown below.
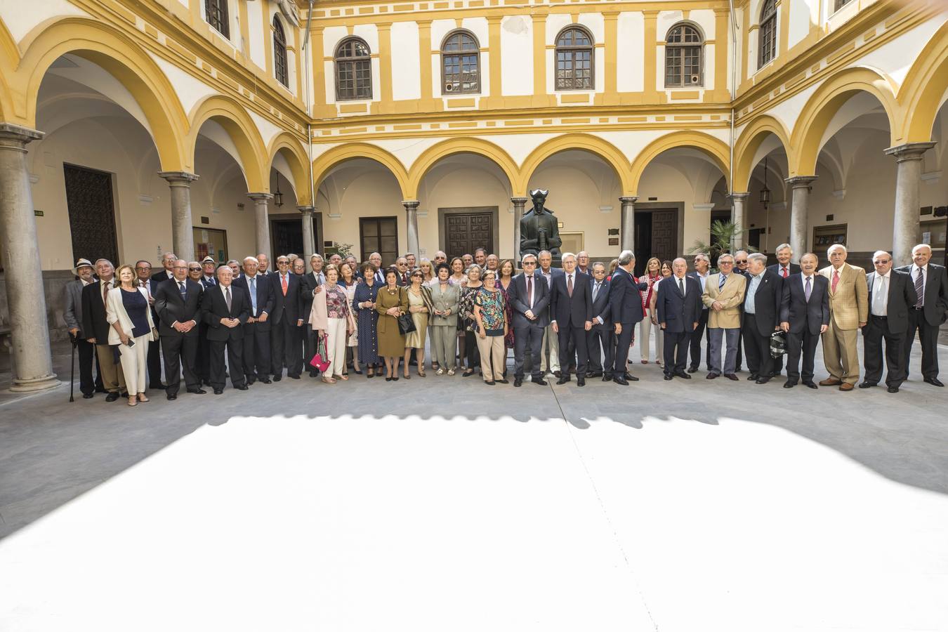
<svg viewBox="0 0 948 632"><path fill-rule="evenodd" d="M655 300L659 327L665 334L665 380L677 375L690 380L684 370L688 338L698 329L702 316L702 285L687 277L688 262L679 257L671 262L672 275L658 284Z"/></svg>

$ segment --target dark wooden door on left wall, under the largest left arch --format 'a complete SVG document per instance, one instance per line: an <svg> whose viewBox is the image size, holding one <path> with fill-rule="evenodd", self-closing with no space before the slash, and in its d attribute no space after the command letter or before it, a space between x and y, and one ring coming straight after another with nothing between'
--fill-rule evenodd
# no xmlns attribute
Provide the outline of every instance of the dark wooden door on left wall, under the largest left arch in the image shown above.
<svg viewBox="0 0 948 632"><path fill-rule="evenodd" d="M63 165L73 259L107 259L118 266L112 174Z"/></svg>

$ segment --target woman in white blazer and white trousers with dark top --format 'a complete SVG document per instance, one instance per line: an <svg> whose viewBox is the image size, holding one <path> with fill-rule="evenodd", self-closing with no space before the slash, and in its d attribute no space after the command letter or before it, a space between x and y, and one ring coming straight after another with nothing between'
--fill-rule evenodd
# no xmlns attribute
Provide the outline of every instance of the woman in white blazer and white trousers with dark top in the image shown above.
<svg viewBox="0 0 948 632"><path fill-rule="evenodd" d="M136 286L135 270L122 265L116 271L118 287L109 290L105 319L112 325L109 344L118 345L121 370L128 388L128 405L147 402L148 343L152 340L155 322L148 303L148 290Z"/></svg>

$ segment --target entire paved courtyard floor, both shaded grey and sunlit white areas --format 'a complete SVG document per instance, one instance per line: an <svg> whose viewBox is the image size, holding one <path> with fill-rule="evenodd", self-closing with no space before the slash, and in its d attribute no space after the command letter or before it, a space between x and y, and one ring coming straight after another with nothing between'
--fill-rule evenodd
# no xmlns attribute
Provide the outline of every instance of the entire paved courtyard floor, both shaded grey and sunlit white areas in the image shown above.
<svg viewBox="0 0 948 632"><path fill-rule="evenodd" d="M9 397L0 630L945 631L948 389L918 367Z"/></svg>

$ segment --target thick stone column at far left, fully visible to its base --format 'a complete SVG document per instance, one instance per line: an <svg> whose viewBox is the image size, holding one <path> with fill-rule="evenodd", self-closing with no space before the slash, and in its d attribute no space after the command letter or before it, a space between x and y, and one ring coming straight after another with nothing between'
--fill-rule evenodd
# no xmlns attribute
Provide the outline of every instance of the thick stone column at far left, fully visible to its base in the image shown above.
<svg viewBox="0 0 948 632"><path fill-rule="evenodd" d="M27 143L42 137L42 132L0 123L0 235L12 334L10 390L16 392L60 385L49 352L43 263L27 172Z"/></svg>

